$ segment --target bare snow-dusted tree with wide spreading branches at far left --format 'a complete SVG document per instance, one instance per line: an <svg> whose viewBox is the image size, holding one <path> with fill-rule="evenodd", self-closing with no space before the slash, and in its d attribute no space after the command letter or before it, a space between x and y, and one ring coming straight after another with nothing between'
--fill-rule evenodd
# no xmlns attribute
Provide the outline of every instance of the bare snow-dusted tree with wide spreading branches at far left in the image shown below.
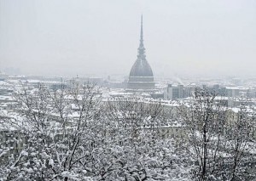
<svg viewBox="0 0 256 181"><path fill-rule="evenodd" d="M91 84L56 90L44 86L15 94L16 117L5 124L25 138L21 156L6 179L84 179L84 162L98 137L96 122L101 93Z"/></svg>

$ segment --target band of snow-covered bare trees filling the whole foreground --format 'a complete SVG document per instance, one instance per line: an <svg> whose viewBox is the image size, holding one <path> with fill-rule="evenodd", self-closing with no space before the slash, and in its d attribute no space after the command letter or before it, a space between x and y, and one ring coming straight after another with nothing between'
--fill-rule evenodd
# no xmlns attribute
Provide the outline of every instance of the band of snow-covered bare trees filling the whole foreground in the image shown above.
<svg viewBox="0 0 256 181"><path fill-rule="evenodd" d="M1 180L253 180L255 119L198 91L166 105L102 99L86 84L14 93L2 110Z"/></svg>

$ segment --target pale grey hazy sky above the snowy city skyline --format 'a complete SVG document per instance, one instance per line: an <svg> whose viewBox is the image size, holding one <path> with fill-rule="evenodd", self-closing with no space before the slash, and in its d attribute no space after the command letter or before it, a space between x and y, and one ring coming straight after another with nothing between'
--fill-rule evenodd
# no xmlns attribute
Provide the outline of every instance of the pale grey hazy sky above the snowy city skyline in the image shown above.
<svg viewBox="0 0 256 181"><path fill-rule="evenodd" d="M254 0L0 0L0 70L128 75L141 14L156 76L256 76Z"/></svg>

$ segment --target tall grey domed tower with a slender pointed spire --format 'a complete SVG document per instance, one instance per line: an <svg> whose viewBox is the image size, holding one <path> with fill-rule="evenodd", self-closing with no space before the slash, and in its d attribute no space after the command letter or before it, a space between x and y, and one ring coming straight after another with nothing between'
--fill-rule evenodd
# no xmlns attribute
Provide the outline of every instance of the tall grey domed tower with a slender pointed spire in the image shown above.
<svg viewBox="0 0 256 181"><path fill-rule="evenodd" d="M137 48L137 60L131 67L127 89L130 90L153 90L154 76L148 64L143 44L143 15L141 20L140 44Z"/></svg>

